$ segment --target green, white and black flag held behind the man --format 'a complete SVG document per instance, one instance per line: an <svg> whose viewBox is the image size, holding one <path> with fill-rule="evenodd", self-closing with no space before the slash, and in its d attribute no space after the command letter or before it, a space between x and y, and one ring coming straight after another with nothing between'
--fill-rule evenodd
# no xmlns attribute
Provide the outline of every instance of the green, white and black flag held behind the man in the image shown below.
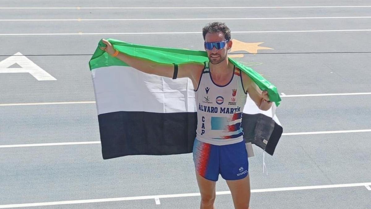
<svg viewBox="0 0 371 209"><path fill-rule="evenodd" d="M205 51L131 44L108 39L120 52L148 60L181 64L208 60ZM192 152L197 112L188 78L160 77L138 71L102 51L100 41L89 61L104 159L125 155L170 155ZM275 86L249 67L229 60L273 101L262 111L248 97L243 110L244 140L273 155L282 135L275 115L281 99Z"/></svg>

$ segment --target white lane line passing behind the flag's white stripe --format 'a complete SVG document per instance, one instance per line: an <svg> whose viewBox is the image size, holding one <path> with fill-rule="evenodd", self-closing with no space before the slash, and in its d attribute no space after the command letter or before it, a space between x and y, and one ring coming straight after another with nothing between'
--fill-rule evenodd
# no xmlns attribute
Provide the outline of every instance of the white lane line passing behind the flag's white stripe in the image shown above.
<svg viewBox="0 0 371 209"><path fill-rule="evenodd" d="M352 95L367 95L371 92L362 93L334 93L334 94L293 94L286 95L281 93L280 97L317 97L317 96L352 96ZM65 104L91 104L95 101L81 101L81 102L32 102L32 103L3 103L0 106L24 106L24 105L65 105Z"/></svg>

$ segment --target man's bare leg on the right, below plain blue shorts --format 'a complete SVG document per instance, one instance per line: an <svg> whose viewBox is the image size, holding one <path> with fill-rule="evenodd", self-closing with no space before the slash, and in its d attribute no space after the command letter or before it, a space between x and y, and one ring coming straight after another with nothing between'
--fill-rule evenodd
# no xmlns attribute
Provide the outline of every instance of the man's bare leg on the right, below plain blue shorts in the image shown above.
<svg viewBox="0 0 371 209"><path fill-rule="evenodd" d="M235 209L250 209L250 176L239 180L227 180Z"/></svg>

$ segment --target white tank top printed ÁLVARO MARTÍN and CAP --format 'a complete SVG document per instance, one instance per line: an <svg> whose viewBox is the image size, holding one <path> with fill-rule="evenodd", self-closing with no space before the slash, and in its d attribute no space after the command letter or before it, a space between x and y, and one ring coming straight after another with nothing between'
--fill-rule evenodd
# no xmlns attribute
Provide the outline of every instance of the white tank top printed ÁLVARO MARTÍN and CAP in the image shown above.
<svg viewBox="0 0 371 209"><path fill-rule="evenodd" d="M197 130L199 141L227 145L243 141L241 126L247 94L242 86L241 70L234 67L231 80L225 86L214 83L209 62L201 74L196 94Z"/></svg>

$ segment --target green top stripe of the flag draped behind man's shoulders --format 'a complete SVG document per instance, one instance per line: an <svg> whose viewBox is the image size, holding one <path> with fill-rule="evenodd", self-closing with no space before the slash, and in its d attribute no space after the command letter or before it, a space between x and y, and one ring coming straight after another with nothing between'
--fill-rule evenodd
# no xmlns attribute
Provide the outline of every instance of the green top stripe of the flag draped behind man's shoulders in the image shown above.
<svg viewBox="0 0 371 209"><path fill-rule="evenodd" d="M205 62L208 61L206 51L196 51L190 49L178 49L178 48L165 48L158 46L147 46L139 44L131 44L115 39L107 39L115 49L119 52L131 55L133 57L144 58L163 64L181 64L184 62ZM109 66L128 66L125 62L108 55L102 51L99 47L105 47L105 44L99 41L98 47L96 48L91 60L89 61L90 70L100 67ZM246 67L236 60L229 58L236 67L240 68L244 73L259 86L261 90L267 90L269 99L276 103L276 106L280 104L281 98L278 94L277 88L263 78L259 73L254 71L252 68Z"/></svg>

